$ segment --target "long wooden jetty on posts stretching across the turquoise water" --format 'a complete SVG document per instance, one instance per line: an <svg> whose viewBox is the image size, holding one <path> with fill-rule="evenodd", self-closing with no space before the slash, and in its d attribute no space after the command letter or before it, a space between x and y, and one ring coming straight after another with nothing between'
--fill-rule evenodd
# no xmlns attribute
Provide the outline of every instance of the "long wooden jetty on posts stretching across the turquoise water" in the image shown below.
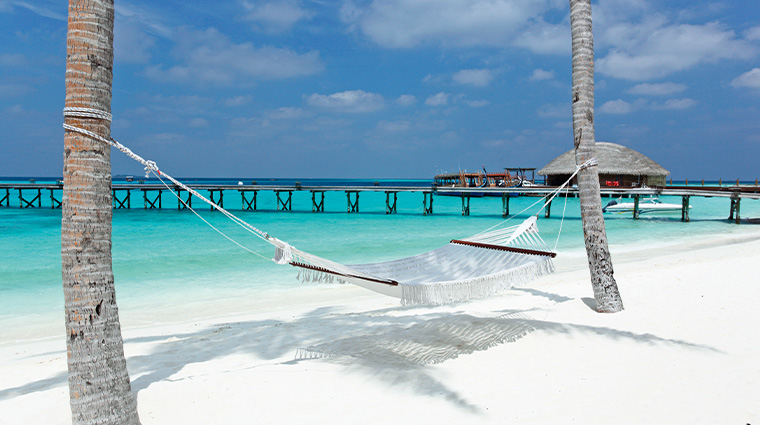
<svg viewBox="0 0 760 425"><path fill-rule="evenodd" d="M551 193L556 187L551 186L534 186L534 187L480 187L480 188L463 188L463 187L436 187L436 186L310 186L296 183L294 185L212 185L197 184L189 185L192 189L207 194L207 197L220 206L224 206L224 195L229 192L237 192L241 197L242 210L257 211L259 192L272 192L276 197L276 208L278 211L292 211L293 193L307 192L311 195L312 212L325 211L325 193L326 192L344 192L346 194L346 212L359 212L359 195L362 192L384 192L385 193L385 212L394 214L397 212L398 193L401 192L419 192L423 196L422 213L433 213L434 195L457 196L462 200L462 215L470 214L470 201L472 198L488 196L501 197L502 215L508 216L510 198L515 195L538 196L543 197ZM192 207L193 197L191 194L178 187L170 186L182 198L177 201L176 208L184 209ZM111 187L113 195L114 209L133 208L133 193L141 194L136 201L142 200L142 207L145 209L162 209L162 194L169 191L166 186L161 184L144 184L144 183L114 183ZM19 208L42 208L43 196L49 196L50 202L45 202L50 208L61 207L61 195L63 184L39 184L39 183L0 183L0 207L11 206L11 194L18 195ZM565 192L563 192L564 194ZM567 189L567 196L577 196L577 188ZM638 205L641 197L647 196L680 196L682 198L681 219L689 221L689 199L691 197L719 197L728 198L729 220L736 223L741 221L741 201L742 199L760 199L760 187L758 186L666 186L653 188L620 188L620 187L602 187L601 194L604 197L627 197L634 200ZM15 203L14 203L15 204ZM139 208L139 206L136 206ZM174 208L167 206L166 208ZM551 215L551 204L546 206L545 215ZM638 218L638 210L634 209L633 217Z"/></svg>

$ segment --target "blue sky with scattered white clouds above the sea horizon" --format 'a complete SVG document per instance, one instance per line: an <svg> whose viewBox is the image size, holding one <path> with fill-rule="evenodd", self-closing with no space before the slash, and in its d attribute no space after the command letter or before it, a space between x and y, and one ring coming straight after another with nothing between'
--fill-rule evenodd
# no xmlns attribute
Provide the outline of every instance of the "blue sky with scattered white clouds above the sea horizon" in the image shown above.
<svg viewBox="0 0 760 425"><path fill-rule="evenodd" d="M0 0L0 176L61 175L66 14ZM760 177L757 0L593 20L597 141ZM117 0L112 135L175 176L542 167L572 147L570 63L568 0Z"/></svg>

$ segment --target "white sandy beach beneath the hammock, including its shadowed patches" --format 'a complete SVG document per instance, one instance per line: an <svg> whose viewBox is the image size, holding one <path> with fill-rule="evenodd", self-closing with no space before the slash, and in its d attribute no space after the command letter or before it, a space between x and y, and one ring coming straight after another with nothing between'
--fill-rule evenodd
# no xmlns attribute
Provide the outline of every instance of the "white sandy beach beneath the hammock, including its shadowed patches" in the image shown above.
<svg viewBox="0 0 760 425"><path fill-rule="evenodd" d="M613 250L626 307L618 314L589 307L577 253L558 273L454 306L401 307L340 286L307 287L287 306L211 304L192 320L122 310L140 417L146 425L760 423L760 229L746 229L699 246ZM63 324L49 333L21 342L0 334L0 424L70 423ZM331 356L297 359L320 352Z"/></svg>

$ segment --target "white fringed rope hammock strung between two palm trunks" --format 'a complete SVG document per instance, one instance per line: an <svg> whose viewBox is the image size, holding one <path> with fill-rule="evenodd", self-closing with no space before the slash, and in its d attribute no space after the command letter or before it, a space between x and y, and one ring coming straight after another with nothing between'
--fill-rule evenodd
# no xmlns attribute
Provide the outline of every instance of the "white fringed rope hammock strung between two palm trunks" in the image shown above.
<svg viewBox="0 0 760 425"><path fill-rule="evenodd" d="M86 108L64 108L64 116L109 121L111 119L109 113ZM530 216L517 226L489 229L470 238L452 240L446 246L413 257L372 264L339 264L296 249L251 226L194 189L160 171L155 162L143 159L113 139L108 140L93 132L68 124L64 124L63 127L119 149L143 164L146 176L152 172L162 182L162 177L170 180L257 237L274 245L273 260L277 264L290 264L300 268L298 278L301 281L353 283L381 294L400 298L403 304L444 304L487 297L554 271L552 258L556 254L548 250L538 234L537 214ZM576 173L591 165L596 165L595 158L578 167ZM575 173L564 185L547 197L551 196L553 199L557 196L574 176ZM168 185L167 188L169 188ZM172 193L175 192L172 190ZM175 196L182 201L176 193ZM222 235L227 237L223 233Z"/></svg>

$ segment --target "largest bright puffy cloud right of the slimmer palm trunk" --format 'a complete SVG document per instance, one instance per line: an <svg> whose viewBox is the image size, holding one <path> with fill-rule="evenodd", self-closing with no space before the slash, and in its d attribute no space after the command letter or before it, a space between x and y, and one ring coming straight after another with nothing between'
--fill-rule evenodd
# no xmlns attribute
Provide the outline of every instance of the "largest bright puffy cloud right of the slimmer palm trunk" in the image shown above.
<svg viewBox="0 0 760 425"><path fill-rule="evenodd" d="M634 81L661 78L700 63L748 59L751 44L712 22L704 25L620 25L618 43L596 62L600 74ZM659 26L658 26L659 25ZM650 28L653 26L654 28ZM625 31L623 30L625 29ZM608 33L615 33L614 29Z"/></svg>

